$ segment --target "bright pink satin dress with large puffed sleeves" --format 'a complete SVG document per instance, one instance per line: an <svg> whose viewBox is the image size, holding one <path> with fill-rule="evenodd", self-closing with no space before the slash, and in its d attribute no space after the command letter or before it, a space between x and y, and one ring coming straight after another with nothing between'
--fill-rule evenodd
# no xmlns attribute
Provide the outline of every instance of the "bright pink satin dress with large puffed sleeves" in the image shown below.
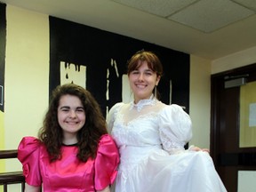
<svg viewBox="0 0 256 192"><path fill-rule="evenodd" d="M62 146L62 158L50 163L46 148L35 137L24 137L18 148L26 182L41 186L44 192L91 192L102 190L116 179L119 154L116 143L101 136L97 156L87 162L77 157L76 146Z"/></svg>

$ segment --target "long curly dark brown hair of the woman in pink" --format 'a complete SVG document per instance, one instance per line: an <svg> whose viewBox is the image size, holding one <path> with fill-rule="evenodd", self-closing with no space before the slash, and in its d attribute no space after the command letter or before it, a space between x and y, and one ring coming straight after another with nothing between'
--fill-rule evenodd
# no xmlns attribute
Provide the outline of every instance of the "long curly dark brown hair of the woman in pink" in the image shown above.
<svg viewBox="0 0 256 192"><path fill-rule="evenodd" d="M38 132L38 138L47 148L51 161L61 158L60 148L63 133L58 123L58 107L60 98L67 94L78 97L84 106L86 121L82 129L77 132L77 157L86 162L89 157L95 158L100 137L107 134L108 131L99 103L91 92L83 87L77 84L63 84L53 90L48 111L44 116L43 127Z"/></svg>

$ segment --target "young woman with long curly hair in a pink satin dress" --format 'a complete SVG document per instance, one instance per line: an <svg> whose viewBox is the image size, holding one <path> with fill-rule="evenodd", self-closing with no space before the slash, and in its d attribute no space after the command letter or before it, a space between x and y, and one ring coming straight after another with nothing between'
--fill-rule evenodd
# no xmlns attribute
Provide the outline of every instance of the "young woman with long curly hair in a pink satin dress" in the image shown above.
<svg viewBox="0 0 256 192"><path fill-rule="evenodd" d="M18 158L27 192L108 192L119 163L99 104L76 84L53 91L38 139L24 137Z"/></svg>

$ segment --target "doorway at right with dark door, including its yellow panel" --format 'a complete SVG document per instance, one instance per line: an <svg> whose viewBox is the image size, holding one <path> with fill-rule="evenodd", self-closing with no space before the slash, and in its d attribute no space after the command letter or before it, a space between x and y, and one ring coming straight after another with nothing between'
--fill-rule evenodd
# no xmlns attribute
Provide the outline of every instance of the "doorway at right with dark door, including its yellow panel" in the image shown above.
<svg viewBox="0 0 256 192"><path fill-rule="evenodd" d="M238 192L241 172L256 175L256 64L212 75L211 85L212 160L228 192Z"/></svg>

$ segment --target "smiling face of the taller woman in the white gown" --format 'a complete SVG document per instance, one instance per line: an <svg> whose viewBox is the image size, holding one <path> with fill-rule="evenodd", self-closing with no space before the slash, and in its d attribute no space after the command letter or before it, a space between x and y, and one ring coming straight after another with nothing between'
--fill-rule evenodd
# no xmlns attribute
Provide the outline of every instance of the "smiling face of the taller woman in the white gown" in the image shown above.
<svg viewBox="0 0 256 192"><path fill-rule="evenodd" d="M159 83L160 76L156 72L148 68L147 61L142 62L139 68L131 71L129 74L129 82L134 94L134 102L149 99L155 86Z"/></svg>

